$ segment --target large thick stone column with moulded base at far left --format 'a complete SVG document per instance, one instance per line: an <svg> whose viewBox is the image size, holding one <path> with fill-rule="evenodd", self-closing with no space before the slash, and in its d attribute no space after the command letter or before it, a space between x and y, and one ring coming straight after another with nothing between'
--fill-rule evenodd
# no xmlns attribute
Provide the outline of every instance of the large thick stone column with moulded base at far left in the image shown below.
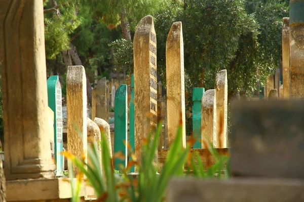
<svg viewBox="0 0 304 202"><path fill-rule="evenodd" d="M43 1L0 1L7 180L53 178Z"/></svg>

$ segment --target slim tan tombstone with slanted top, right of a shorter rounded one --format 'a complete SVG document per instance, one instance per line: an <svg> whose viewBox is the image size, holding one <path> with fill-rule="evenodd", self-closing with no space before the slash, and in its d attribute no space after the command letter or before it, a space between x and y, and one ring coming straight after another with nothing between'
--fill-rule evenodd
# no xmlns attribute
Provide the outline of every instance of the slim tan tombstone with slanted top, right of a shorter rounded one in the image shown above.
<svg viewBox="0 0 304 202"><path fill-rule="evenodd" d="M228 105L228 84L227 70L221 70L215 78L216 94L216 136L217 147L228 147L227 136L227 105Z"/></svg>

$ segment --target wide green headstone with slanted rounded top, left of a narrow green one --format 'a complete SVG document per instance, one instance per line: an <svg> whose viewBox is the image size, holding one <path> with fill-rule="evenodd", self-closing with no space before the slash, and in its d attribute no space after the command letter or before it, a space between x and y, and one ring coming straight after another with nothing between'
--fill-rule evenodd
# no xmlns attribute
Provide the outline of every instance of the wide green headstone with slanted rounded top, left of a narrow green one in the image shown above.
<svg viewBox="0 0 304 202"><path fill-rule="evenodd" d="M115 158L114 167L120 170L120 164L127 167L127 145L128 140L128 97L127 85L122 84L115 94L115 132L114 132L114 154L119 151L125 156L124 159Z"/></svg>

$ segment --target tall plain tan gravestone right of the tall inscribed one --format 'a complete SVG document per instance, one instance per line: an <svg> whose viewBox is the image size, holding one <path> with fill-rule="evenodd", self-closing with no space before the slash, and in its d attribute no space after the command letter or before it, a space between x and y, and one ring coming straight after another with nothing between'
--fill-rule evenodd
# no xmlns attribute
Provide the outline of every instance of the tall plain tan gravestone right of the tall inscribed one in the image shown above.
<svg viewBox="0 0 304 202"><path fill-rule="evenodd" d="M178 126L182 124L182 146L186 146L185 84L183 61L182 24L171 26L166 43L167 124L169 145L175 140Z"/></svg>

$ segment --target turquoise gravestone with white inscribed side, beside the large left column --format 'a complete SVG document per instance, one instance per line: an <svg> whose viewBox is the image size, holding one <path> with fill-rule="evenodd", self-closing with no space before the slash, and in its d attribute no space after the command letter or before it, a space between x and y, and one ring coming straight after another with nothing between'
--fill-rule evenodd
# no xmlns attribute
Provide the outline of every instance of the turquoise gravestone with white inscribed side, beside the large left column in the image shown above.
<svg viewBox="0 0 304 202"><path fill-rule="evenodd" d="M62 140L62 94L58 76L50 76L48 83L48 103L54 112L54 142L55 142L55 161L56 175L63 174L63 151Z"/></svg>

